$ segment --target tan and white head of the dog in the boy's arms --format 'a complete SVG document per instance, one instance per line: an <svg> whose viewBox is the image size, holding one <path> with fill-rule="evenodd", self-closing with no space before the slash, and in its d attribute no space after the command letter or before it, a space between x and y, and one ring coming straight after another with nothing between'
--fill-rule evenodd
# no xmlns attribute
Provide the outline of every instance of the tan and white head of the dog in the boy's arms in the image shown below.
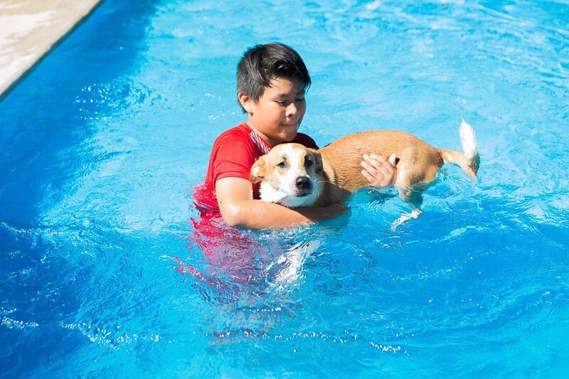
<svg viewBox="0 0 569 379"><path fill-rule="evenodd" d="M309 206L320 196L322 158L301 144L280 144L251 168L251 181L261 181L261 200L289 208Z"/></svg>

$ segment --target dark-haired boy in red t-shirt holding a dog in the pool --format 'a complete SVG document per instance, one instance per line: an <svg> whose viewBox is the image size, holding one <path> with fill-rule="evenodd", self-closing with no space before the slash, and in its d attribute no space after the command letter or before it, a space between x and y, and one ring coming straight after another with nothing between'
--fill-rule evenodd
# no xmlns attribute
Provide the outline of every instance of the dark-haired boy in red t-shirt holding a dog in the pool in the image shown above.
<svg viewBox="0 0 569 379"><path fill-rule="evenodd" d="M247 122L229 129L211 149L206 182L194 194L202 217L220 212L225 223L250 229L277 228L334 218L344 205L326 208L286 208L258 200L259 185L250 181L257 158L272 147L296 142L318 149L306 134L297 130L306 111L304 95L311 84L302 58L282 43L257 45L245 52L237 68L238 101ZM388 187L395 182L395 156L364 156L362 174L372 186Z"/></svg>

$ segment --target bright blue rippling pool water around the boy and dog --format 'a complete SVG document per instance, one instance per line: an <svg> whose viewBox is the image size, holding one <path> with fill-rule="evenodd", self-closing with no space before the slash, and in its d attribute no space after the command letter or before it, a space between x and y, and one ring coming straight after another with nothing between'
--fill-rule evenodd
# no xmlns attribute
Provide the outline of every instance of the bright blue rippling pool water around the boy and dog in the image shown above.
<svg viewBox="0 0 569 379"><path fill-rule="evenodd" d="M107 0L0 100L0 375L567 375L569 3L230 3ZM269 41L312 73L321 146L459 149L464 117L479 183L446 167L395 231L405 203L364 190L333 222L196 233Z"/></svg>

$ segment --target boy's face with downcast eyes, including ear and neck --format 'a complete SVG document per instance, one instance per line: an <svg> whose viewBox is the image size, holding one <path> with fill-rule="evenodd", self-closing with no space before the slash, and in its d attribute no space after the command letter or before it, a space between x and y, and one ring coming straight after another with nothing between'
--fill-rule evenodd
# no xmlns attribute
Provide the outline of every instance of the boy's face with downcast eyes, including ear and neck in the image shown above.
<svg viewBox="0 0 569 379"><path fill-rule="evenodd" d="M258 102L242 102L248 112L247 123L271 147L291 142L307 109L304 88L299 80L275 78Z"/></svg>

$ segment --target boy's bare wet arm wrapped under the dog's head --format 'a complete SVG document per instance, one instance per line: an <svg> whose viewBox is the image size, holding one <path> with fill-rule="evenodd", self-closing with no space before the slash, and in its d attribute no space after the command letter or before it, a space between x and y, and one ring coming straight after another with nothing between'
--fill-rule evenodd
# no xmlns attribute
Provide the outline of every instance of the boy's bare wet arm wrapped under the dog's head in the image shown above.
<svg viewBox="0 0 569 379"><path fill-rule="evenodd" d="M344 205L324 208L287 208L256 200L251 182L243 178L221 178L216 182L216 197L225 223L249 229L282 228L334 218L346 211Z"/></svg>

